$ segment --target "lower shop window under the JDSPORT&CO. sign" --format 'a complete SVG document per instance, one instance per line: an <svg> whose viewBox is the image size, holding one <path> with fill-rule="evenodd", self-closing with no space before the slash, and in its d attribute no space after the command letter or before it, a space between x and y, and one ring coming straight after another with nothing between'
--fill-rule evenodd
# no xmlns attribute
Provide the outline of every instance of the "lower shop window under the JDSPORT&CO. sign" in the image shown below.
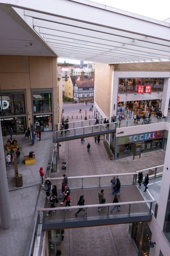
<svg viewBox="0 0 170 256"><path fill-rule="evenodd" d="M52 114L34 116L35 130L52 131Z"/></svg>

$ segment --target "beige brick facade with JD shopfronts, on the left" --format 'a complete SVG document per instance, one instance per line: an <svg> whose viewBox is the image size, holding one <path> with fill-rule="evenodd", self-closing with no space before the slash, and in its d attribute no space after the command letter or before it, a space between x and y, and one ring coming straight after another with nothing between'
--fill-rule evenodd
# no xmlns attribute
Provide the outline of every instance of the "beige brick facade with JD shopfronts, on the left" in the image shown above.
<svg viewBox="0 0 170 256"><path fill-rule="evenodd" d="M16 134L25 133L30 123L42 132L54 130L62 117L62 77L58 78L57 57L0 56L4 136L11 127Z"/></svg>

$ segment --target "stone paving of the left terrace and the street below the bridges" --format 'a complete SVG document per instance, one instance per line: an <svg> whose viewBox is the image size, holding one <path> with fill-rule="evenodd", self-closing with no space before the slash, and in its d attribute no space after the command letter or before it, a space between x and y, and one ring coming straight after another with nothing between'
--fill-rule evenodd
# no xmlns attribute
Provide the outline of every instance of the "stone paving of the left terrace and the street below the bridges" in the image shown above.
<svg viewBox="0 0 170 256"><path fill-rule="evenodd" d="M77 112L69 113L69 116L72 114L74 116L73 121L75 121ZM24 138L24 135L13 136L17 139L21 150L21 163L18 164L18 168L19 173L23 175L23 187L19 189L15 187L14 169L13 164L11 164L11 167L7 167L7 177L10 191L12 227L9 230L0 228L0 256L24 255L40 187L39 167L43 166L44 172L46 171L52 134L52 132L42 133L41 141L36 141L34 147L30 141ZM5 145L8 138L3 137L5 156L7 154ZM93 137L85 138L84 143L81 143L80 139L62 142L58 172L51 174L51 178L62 177L64 173L67 176L85 176L135 172L136 169L143 169L164 162L164 150L141 154L141 159L136 157L134 161L133 156L116 161L110 160L104 148L103 139L101 137L99 145L94 143ZM88 143L91 144L90 153L87 152ZM32 150L35 152L35 164L25 165L23 157ZM61 168L62 159L66 162L66 172L62 171ZM103 185L106 185L106 183L110 185L109 179L101 180ZM130 176L128 179L123 177L120 181L121 183L132 182L132 177ZM74 180L72 183L74 187L79 185L76 182L78 181ZM94 186L98 184L98 179L86 179L83 182L85 186ZM60 183L56 183L57 188L60 188ZM45 197L45 192L41 189L38 208L44 207ZM103 253L109 256L137 256L128 232L128 225L126 224L65 230L64 241L58 248L61 248L64 256L76 256L79 253L88 254L89 256L96 254L102 256Z"/></svg>

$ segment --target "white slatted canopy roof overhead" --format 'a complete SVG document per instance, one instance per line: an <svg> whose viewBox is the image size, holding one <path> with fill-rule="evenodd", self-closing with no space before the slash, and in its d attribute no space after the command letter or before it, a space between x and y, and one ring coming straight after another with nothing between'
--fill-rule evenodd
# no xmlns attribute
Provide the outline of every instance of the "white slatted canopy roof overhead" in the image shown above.
<svg viewBox="0 0 170 256"><path fill-rule="evenodd" d="M0 9L36 35L50 56L104 63L170 61L166 22L86 0L0 0Z"/></svg>

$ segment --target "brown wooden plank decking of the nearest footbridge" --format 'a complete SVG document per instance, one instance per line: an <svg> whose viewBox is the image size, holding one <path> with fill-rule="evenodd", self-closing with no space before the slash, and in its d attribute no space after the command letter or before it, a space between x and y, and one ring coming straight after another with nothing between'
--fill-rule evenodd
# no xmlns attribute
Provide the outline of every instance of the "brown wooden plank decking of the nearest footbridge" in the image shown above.
<svg viewBox="0 0 170 256"><path fill-rule="evenodd" d="M98 193L101 191L101 189L104 189L104 194L106 197L106 203L112 203L114 196L111 194L111 188L110 187L102 187L102 188L84 188L84 189L72 189L72 192L70 193L71 195L71 200L72 200L72 206L77 206L79 197L81 195L84 195L85 199L85 205L90 205L90 204L99 204L98 200ZM143 188L141 188L143 189ZM61 191L57 191L58 193L58 198L60 197ZM120 188L120 197L119 197L119 202L132 202L132 201L144 201L144 198L140 194L138 188L136 185L129 185L129 186L121 186ZM59 199L59 203L55 204L56 207L64 207L64 205L60 204L63 202L64 196L62 199ZM46 198L45 202L45 208L49 208L50 203L49 200ZM97 211L96 208L90 208L87 209L87 216L88 217L104 217L107 215L107 208L100 208L101 211ZM120 212L117 211L117 208L113 210L111 213L110 210L112 207L109 207L109 215L125 215L128 214L129 212L129 206L128 205L123 205L120 207ZM45 212L45 219L46 221L57 221L57 220L63 220L64 215L66 219L78 219L78 218L84 218L84 216L81 215L81 212L78 213L78 217L74 215L78 209L70 211L57 211L53 213L53 208L51 209L52 212L50 216L47 216L48 212ZM135 204L131 205L131 214L135 213L149 213L149 207L147 204Z"/></svg>

